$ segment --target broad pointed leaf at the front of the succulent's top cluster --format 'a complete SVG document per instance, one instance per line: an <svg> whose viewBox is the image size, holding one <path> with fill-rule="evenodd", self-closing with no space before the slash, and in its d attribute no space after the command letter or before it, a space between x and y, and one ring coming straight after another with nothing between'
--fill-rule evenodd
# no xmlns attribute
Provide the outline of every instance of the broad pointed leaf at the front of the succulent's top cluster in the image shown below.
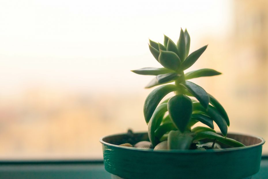
<svg viewBox="0 0 268 179"><path fill-rule="evenodd" d="M161 51L158 61L163 67L171 70L176 71L180 67L180 58L176 53L171 51Z"/></svg>

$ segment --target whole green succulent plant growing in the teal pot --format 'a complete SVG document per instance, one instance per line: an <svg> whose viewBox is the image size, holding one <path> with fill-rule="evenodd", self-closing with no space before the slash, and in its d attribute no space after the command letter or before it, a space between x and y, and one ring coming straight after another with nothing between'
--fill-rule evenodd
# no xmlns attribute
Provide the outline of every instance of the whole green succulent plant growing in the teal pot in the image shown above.
<svg viewBox="0 0 268 179"><path fill-rule="evenodd" d="M153 147L165 142L168 149L191 149L196 148L195 144L203 139L214 140L230 147L244 146L226 137L230 122L218 100L199 85L188 81L221 73L207 68L184 73L206 48L207 45L189 55L190 36L187 30L181 29L177 44L165 35L164 44L150 40L150 52L163 68L141 68L132 71L155 76L146 88L162 85L154 89L144 103L144 118ZM166 84L172 82L173 84ZM170 92L175 92L175 96L160 104ZM207 127L193 128L197 122ZM220 128L221 135L215 132L214 122Z"/></svg>

